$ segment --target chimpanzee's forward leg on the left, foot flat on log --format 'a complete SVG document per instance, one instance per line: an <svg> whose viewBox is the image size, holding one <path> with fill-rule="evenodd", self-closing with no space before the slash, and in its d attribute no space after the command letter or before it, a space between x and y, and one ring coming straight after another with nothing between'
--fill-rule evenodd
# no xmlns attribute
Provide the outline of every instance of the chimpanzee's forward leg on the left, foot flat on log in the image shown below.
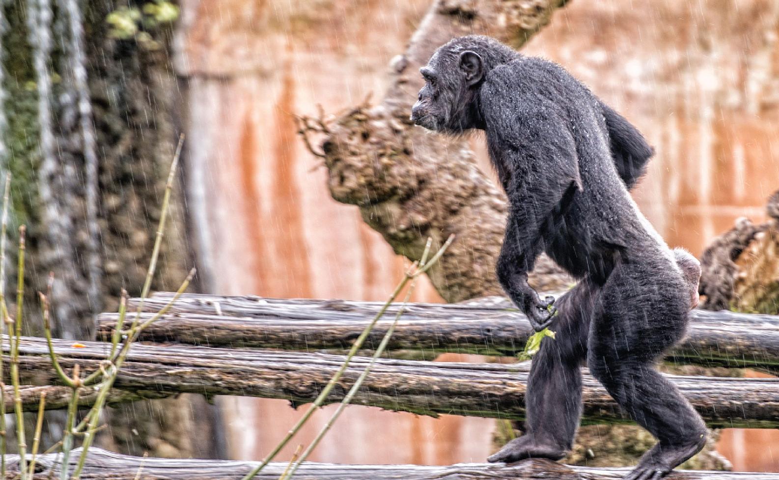
<svg viewBox="0 0 779 480"><path fill-rule="evenodd" d="M559 460L573 446L581 416L580 366L587 356L587 334L597 286L585 279L559 298L558 314L533 358L527 383L526 432L488 461L512 462L543 457Z"/></svg>

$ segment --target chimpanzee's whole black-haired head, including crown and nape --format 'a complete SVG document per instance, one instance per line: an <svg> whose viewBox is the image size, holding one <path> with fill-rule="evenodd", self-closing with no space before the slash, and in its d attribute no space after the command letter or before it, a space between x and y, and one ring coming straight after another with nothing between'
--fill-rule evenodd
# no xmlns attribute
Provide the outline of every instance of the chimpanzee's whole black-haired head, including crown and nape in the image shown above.
<svg viewBox="0 0 779 480"><path fill-rule="evenodd" d="M468 35L444 44L422 67L425 86L411 108L411 121L436 132L461 133L483 128L478 90L487 73L517 57L490 37Z"/></svg>

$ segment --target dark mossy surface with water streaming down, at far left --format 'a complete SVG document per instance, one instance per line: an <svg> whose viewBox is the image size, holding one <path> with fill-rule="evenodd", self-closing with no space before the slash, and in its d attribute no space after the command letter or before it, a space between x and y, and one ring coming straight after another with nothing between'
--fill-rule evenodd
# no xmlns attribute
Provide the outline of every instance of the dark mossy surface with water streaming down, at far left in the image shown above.
<svg viewBox="0 0 779 480"><path fill-rule="evenodd" d="M89 338L95 315L115 309L122 289L139 295L146 275L178 137L168 66L177 9L166 3L167 10L155 12L144 10L146 2L118 1L4 3L2 167L13 177L12 223L27 225L26 311L37 312L35 292L46 291L51 272L55 334ZM82 67L86 88L79 92ZM85 92L88 102L79 104ZM92 132L97 161L90 164L84 138ZM153 289L177 288L192 263L178 198ZM38 331L36 316L27 318L26 328ZM109 413L104 443L128 454L213 456L213 415L199 418L196 428L192 411L210 407L199 397L129 404ZM56 439L57 422L50 423Z"/></svg>

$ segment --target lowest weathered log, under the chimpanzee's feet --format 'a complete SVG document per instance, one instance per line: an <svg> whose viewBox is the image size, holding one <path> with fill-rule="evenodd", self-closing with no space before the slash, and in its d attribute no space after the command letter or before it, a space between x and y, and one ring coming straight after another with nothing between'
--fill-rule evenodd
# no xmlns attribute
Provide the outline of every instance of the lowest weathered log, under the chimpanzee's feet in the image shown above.
<svg viewBox="0 0 779 480"><path fill-rule="evenodd" d="M80 449L76 449L80 451ZM75 458L74 458L75 457ZM78 455L73 455L75 463ZM19 457L7 457L9 471L5 478L17 478ZM39 473L35 480L59 478L61 465L57 454L37 457ZM140 458L115 454L99 448L90 449L81 478L83 480L239 480L257 462L220 460L179 460L168 458ZM270 463L255 478L276 480L280 477L286 462ZM142 475L138 475L138 471ZM432 465L347 465L319 464L307 462L295 474L296 480L616 480L622 478L629 468L574 467L553 461L534 459L516 464L455 464ZM667 480L779 480L777 473L751 473L733 471L675 471Z"/></svg>

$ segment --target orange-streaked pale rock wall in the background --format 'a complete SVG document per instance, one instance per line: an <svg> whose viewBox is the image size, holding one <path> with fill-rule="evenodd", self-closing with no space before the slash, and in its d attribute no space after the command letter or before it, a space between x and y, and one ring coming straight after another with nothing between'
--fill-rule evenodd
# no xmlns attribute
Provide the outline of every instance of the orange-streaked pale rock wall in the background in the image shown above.
<svg viewBox="0 0 779 480"><path fill-rule="evenodd" d="M391 291L403 260L356 208L330 199L292 115L380 97L428 3L182 0L175 68L207 288L371 300ZM636 199L669 244L700 254L736 217L763 217L779 188L777 19L777 0L577 0L525 51L566 66L640 127L657 157ZM427 283L415 298L438 300ZM263 457L299 415L283 401L220 401L236 458ZM318 418L301 442L326 413ZM482 461L493 423L353 407L312 460ZM779 471L776 433L728 432L721 450L736 468Z"/></svg>

